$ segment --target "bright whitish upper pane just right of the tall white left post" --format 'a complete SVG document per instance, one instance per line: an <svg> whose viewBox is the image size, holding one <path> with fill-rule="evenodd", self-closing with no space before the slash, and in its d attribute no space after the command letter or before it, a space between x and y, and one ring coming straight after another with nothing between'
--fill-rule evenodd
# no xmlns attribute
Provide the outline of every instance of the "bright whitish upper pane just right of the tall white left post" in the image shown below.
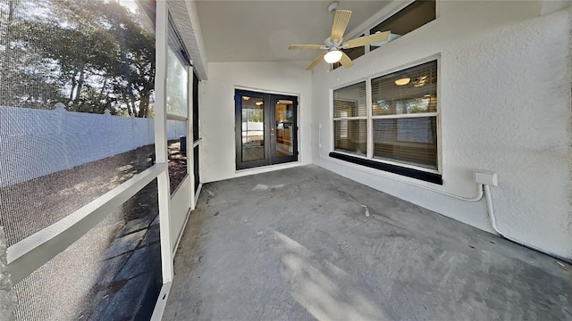
<svg viewBox="0 0 572 321"><path fill-rule="evenodd" d="M167 113L187 117L189 114L187 106L188 96L187 69L171 47L167 50Z"/></svg>

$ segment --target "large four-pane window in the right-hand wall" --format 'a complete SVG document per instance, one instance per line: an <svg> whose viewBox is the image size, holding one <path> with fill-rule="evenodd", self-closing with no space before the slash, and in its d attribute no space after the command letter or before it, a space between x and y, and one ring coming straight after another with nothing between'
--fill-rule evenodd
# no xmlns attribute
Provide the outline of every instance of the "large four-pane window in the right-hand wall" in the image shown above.
<svg viewBox="0 0 572 321"><path fill-rule="evenodd" d="M437 172L437 61L369 81L333 92L334 152Z"/></svg>

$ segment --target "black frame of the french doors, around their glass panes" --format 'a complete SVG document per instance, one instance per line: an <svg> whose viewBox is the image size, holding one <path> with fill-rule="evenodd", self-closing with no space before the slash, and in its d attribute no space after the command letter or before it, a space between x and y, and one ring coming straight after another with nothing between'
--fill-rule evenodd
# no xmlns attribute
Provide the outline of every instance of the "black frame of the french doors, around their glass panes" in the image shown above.
<svg viewBox="0 0 572 321"><path fill-rule="evenodd" d="M264 139L265 158L257 161L242 161L242 96L262 99L264 102ZM292 101L292 155L285 157L276 156L276 108L279 100ZM290 161L298 161L298 96L260 93L249 90L235 89L234 92L234 136L236 147L236 169L252 169L261 166L281 164Z"/></svg>

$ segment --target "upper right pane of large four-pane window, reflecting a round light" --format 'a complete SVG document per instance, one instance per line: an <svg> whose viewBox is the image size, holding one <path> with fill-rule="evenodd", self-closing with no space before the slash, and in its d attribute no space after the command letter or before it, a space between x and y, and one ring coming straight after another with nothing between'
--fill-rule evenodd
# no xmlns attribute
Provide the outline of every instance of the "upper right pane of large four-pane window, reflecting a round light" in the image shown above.
<svg viewBox="0 0 572 321"><path fill-rule="evenodd" d="M372 79L372 114L437 112L437 61Z"/></svg>

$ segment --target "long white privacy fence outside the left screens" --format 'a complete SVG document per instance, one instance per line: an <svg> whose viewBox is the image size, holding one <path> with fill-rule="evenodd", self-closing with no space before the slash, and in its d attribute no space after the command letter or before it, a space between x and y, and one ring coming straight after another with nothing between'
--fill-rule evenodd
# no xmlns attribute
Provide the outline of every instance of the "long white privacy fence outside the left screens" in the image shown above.
<svg viewBox="0 0 572 321"><path fill-rule="evenodd" d="M186 122L168 120L168 139ZM154 144L155 120L0 106L0 187Z"/></svg>

